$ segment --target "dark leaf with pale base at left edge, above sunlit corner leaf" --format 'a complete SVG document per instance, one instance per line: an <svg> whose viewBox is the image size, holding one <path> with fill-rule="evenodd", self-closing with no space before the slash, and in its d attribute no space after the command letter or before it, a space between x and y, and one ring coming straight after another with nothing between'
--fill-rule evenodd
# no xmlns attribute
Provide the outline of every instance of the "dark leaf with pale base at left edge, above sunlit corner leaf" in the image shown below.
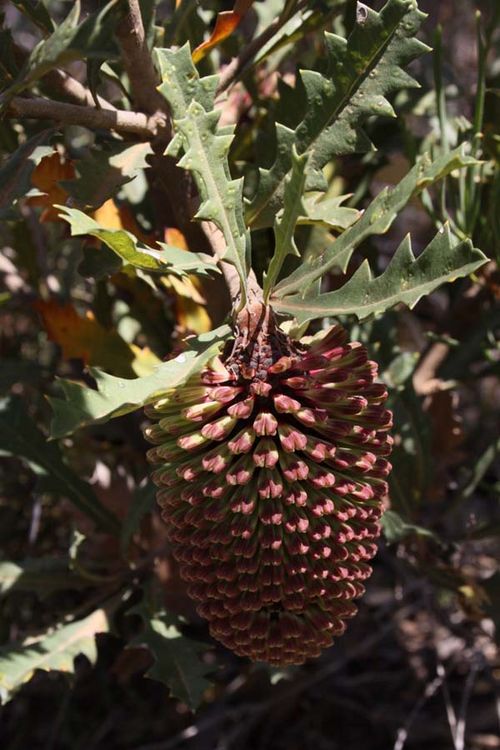
<svg viewBox="0 0 500 750"><path fill-rule="evenodd" d="M64 559L38 557L0 562L0 596L10 591L29 591L43 598L54 591L87 586L89 582L75 574Z"/></svg>

